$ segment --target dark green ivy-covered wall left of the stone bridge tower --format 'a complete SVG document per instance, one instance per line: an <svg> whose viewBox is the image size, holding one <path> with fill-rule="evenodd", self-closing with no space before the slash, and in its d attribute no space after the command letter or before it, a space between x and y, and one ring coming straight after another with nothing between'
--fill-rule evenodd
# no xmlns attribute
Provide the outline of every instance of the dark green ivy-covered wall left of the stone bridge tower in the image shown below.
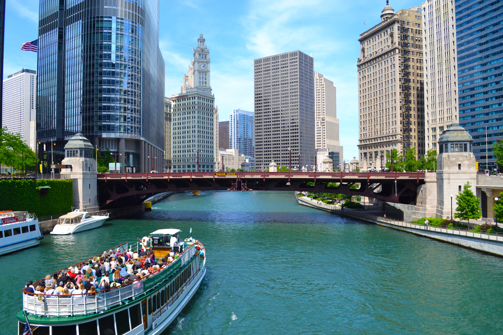
<svg viewBox="0 0 503 335"><path fill-rule="evenodd" d="M50 187L44 196L40 186ZM0 199L0 210L27 210L37 216L66 213L73 205L73 181L1 179Z"/></svg>

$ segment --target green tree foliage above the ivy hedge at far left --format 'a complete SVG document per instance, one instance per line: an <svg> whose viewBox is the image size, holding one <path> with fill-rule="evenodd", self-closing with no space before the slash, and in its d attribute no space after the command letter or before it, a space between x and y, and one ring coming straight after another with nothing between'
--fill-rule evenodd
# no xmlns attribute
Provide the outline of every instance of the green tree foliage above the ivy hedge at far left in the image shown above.
<svg viewBox="0 0 503 335"><path fill-rule="evenodd" d="M37 155L19 135L10 134L7 128L0 129L1 165L11 166L18 171L25 171L25 167L33 169L37 162Z"/></svg>

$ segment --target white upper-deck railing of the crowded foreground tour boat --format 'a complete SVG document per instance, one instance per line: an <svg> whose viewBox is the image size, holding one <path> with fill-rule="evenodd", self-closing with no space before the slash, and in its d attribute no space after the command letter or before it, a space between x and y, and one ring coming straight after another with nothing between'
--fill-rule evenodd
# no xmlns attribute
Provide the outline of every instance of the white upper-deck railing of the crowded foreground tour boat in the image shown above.
<svg viewBox="0 0 503 335"><path fill-rule="evenodd" d="M200 243L197 243L198 245ZM123 244L124 246L127 244ZM196 254L196 244L187 248L180 256L180 266L186 264ZM175 261L172 263L175 264ZM70 294L70 295L46 295L27 293L23 290L23 309L28 314L45 317L79 316L101 313L123 303L124 300L134 300L142 296L146 291L143 289L145 279L154 278L161 274L168 265L142 279L137 279L118 288L97 291L95 293Z"/></svg>

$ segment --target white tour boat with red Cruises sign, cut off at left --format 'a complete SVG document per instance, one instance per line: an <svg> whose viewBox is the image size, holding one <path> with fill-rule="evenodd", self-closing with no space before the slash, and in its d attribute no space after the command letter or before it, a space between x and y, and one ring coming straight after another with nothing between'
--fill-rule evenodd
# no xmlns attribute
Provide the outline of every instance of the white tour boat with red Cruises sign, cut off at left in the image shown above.
<svg viewBox="0 0 503 335"><path fill-rule="evenodd" d="M38 246L44 238L37 215L26 211L0 212L0 255Z"/></svg>

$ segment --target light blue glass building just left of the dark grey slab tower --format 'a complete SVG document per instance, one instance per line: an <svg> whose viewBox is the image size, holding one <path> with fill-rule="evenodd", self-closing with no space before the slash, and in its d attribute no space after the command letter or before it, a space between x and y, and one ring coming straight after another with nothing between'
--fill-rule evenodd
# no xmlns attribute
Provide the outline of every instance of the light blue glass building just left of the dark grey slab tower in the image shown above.
<svg viewBox="0 0 503 335"><path fill-rule="evenodd" d="M230 149L237 149L239 155L244 155L250 169L255 169L254 128L253 111L232 110L229 116L229 146Z"/></svg>

